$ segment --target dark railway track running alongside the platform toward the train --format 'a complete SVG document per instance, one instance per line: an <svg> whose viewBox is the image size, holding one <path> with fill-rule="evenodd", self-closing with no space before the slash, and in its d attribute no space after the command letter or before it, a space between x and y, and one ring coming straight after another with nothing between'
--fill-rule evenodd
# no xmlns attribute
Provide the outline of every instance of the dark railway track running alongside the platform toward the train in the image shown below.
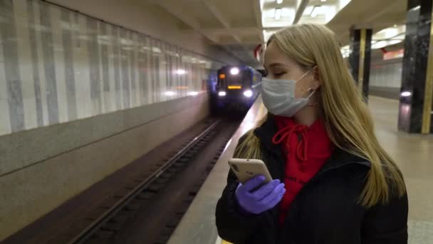
<svg viewBox="0 0 433 244"><path fill-rule="evenodd" d="M214 121L167 161L156 164L147 177L131 181L71 231L48 243L167 243L237 125ZM194 166L200 154L205 162ZM167 190L173 187L176 197Z"/></svg>

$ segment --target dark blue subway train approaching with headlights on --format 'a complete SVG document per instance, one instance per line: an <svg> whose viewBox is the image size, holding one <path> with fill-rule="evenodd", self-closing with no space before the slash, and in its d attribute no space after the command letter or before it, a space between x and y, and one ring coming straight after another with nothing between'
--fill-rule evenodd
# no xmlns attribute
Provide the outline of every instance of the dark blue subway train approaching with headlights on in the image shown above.
<svg viewBox="0 0 433 244"><path fill-rule="evenodd" d="M248 110L259 95L261 77L261 72L249 66L223 66L217 71L211 101L213 109Z"/></svg>

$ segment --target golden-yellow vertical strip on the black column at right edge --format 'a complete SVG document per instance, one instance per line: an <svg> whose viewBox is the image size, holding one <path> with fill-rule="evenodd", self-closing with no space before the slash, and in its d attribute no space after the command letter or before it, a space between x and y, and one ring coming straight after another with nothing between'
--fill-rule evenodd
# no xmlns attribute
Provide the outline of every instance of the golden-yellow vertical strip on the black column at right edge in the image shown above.
<svg viewBox="0 0 433 244"><path fill-rule="evenodd" d="M432 12L433 17L433 12ZM427 74L425 77L424 88L424 107L422 108L422 127L421 133L430 133L432 120L432 100L433 100L433 24L430 25L430 44L429 59L427 60Z"/></svg>

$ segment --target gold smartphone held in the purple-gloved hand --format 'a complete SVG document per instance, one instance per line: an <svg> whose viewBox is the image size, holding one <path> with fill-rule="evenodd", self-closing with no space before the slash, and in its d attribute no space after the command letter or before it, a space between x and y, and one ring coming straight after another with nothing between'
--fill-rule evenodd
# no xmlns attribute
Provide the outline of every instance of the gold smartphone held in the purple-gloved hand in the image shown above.
<svg viewBox="0 0 433 244"><path fill-rule="evenodd" d="M259 159L230 158L229 166L242 184L259 175L265 176L265 183L272 181L266 164Z"/></svg>

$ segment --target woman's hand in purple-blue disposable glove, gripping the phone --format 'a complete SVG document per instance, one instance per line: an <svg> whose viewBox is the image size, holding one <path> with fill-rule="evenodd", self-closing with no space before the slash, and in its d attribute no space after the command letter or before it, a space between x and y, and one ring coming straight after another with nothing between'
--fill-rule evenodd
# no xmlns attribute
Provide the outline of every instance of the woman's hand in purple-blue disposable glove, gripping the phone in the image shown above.
<svg viewBox="0 0 433 244"><path fill-rule="evenodd" d="M251 192L251 190L261 185L264 180L264 176L256 176L244 185L239 183L238 188L236 188L236 200L246 213L263 213L279 203L284 193L286 193L284 183L280 183L280 180L273 180L261 186L258 190Z"/></svg>

